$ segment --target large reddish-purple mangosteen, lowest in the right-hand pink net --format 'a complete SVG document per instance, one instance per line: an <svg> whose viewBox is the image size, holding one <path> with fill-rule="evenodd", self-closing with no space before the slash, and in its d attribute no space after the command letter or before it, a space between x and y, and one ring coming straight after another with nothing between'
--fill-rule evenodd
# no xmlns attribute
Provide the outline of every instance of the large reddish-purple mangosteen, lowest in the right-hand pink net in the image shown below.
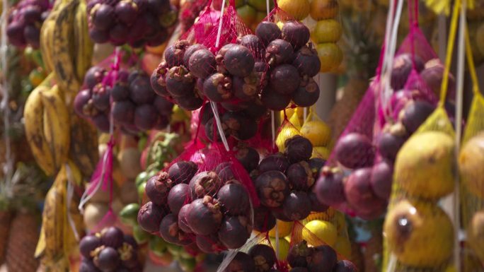
<svg viewBox="0 0 484 272"><path fill-rule="evenodd" d="M362 213L374 211L375 207L386 202L374 194L371 187L371 167L359 168L347 177L345 195L347 203Z"/></svg>

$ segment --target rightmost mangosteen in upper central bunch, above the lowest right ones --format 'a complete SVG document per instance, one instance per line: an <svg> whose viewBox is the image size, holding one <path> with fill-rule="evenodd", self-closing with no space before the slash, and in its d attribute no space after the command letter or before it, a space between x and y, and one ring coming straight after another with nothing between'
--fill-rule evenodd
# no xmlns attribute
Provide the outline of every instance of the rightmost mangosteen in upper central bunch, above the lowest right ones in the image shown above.
<svg viewBox="0 0 484 272"><path fill-rule="evenodd" d="M312 44L309 46L304 45L298 52L296 52L292 65L296 67L301 76L309 76L310 78L316 76L321 69L321 61L319 60L318 52L314 49Z"/></svg>

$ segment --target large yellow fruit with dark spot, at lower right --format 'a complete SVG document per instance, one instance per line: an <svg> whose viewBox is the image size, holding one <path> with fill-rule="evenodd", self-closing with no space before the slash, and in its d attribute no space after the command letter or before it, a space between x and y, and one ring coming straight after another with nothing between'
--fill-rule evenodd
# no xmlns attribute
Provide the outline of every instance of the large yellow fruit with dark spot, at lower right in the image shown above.
<svg viewBox="0 0 484 272"><path fill-rule="evenodd" d="M384 235L388 249L408 266L439 266L454 248L452 222L434 203L400 201L386 216Z"/></svg>

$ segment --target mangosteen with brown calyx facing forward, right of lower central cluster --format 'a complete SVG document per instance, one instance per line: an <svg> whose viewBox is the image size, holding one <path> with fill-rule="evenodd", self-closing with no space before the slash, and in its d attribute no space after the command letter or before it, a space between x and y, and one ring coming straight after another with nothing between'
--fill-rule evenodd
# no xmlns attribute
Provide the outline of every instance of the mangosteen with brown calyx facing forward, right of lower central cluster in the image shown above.
<svg viewBox="0 0 484 272"><path fill-rule="evenodd" d="M289 195L289 182L280 171L267 171L255 179L260 203L270 208L282 206L284 199Z"/></svg>

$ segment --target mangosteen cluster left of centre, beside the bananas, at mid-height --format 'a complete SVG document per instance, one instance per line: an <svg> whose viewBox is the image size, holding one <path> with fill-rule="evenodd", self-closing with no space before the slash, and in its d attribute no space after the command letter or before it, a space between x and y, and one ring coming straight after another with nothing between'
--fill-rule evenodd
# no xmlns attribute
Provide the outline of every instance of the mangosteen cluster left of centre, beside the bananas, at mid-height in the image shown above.
<svg viewBox="0 0 484 272"><path fill-rule="evenodd" d="M142 70L121 70L113 87L107 83L106 69L93 66L84 77L85 89L74 100L74 110L91 119L100 131L110 129L110 113L115 125L126 134L164 129L170 122L173 103L153 93L149 76Z"/></svg>

